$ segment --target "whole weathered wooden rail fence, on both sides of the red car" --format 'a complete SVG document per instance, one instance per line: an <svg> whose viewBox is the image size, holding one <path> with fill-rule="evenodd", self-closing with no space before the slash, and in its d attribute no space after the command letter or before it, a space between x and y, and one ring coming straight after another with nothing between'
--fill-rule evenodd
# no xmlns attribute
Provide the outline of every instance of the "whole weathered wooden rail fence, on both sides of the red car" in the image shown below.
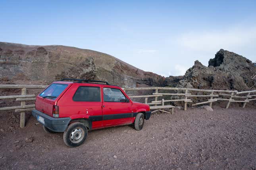
<svg viewBox="0 0 256 170"><path fill-rule="evenodd" d="M0 96L0 99L16 99L16 101L20 101L21 104L19 106L9 106L9 107L1 107L0 111L5 110L15 110L15 112L20 113L20 127L25 127L25 112L31 111L35 109L35 104L26 105L26 101L34 101L36 94L27 94L27 89L44 89L46 85L10 85L10 84L0 84L0 89L21 89L21 95L13 95L13 96ZM130 98L145 98L144 103L150 105L150 109L154 109L155 111L167 112L164 109L172 109L173 113L173 105L165 105L165 103L170 102L183 102L184 110L187 110L187 103L193 103L193 100L196 101L200 98L206 98L206 101L202 101L199 103L193 103L192 106L202 105L209 103L210 107L212 107L212 103L216 101L228 101L226 105L226 109L229 107L231 102L242 102L243 107L245 107L246 103L256 100L256 90L237 92L234 90L204 90L204 89L193 89L193 88L170 88L170 87L144 87L144 88L123 88L125 92L130 90L151 90L152 94L150 95L141 95L141 96L131 96ZM164 92L161 92L164 91ZM171 91L170 93L166 93L166 91ZM203 94L195 94L195 93L203 93ZM245 96L244 96L245 94ZM165 96L174 96L175 99L164 99ZM161 100L158 100L158 97L161 97ZM177 99L178 97L178 99ZM149 99L151 98L151 101ZM243 100L244 99L244 100ZM152 112L155 112L152 111Z"/></svg>

